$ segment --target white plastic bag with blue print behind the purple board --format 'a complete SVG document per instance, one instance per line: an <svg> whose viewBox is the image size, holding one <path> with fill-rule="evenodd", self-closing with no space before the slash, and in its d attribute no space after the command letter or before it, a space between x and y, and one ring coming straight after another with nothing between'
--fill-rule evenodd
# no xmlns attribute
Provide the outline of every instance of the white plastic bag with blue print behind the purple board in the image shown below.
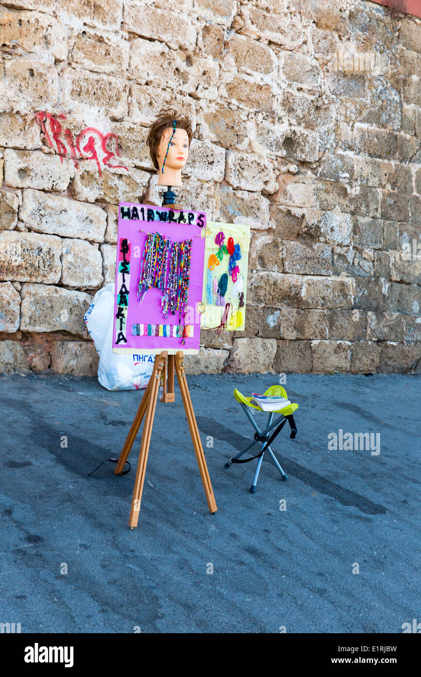
<svg viewBox="0 0 421 677"><path fill-rule="evenodd" d="M100 289L84 314L84 321L99 355L98 380L107 390L146 388L153 355L113 353L114 282Z"/></svg>

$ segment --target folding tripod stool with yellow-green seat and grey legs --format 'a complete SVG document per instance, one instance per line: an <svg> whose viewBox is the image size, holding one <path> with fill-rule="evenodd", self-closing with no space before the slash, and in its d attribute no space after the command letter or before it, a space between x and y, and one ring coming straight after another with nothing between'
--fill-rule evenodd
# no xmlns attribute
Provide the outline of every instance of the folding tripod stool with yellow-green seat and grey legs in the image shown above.
<svg viewBox="0 0 421 677"><path fill-rule="evenodd" d="M269 397L287 397L287 393L282 388L282 386L279 385L272 385L265 395L268 395ZM250 491L252 494L254 494L256 490L256 484L257 484L257 478L259 477L259 472L260 472L260 467L262 466L262 461L263 461L263 455L264 452L268 452L270 454L270 458L272 458L274 464L276 465L276 468L278 468L278 471L280 472L280 475L282 476L283 480L287 480L287 475L285 475L284 471L280 467L280 464L278 463L278 460L276 460L276 457L274 456L274 453L272 452L272 449L270 448L270 445L274 441L274 439L277 437L277 435L280 433L282 428L284 427L284 424L288 421L289 425L291 427L291 435L290 437L292 439L295 438L295 435L297 435L297 426L295 425L295 420L293 417L293 412L295 412L296 409L298 409L298 404L289 404L287 407L284 407L283 409L279 409L276 412L266 412L269 413L269 418L268 418L268 423L266 424L266 428L264 431L261 431L259 427L257 426L257 423L255 422L255 419L253 418L251 412L249 411L250 408L257 409L257 411L262 412L263 410L260 407L257 407L252 401L251 397L245 397L240 393L237 388L234 390L234 397L237 399L237 402L241 404L241 407L243 408L245 415L251 422L251 425L255 429L255 434L254 434L254 439L253 441L243 449L242 452L237 454L237 456L233 456L226 462L225 467L229 468L232 463L248 463L249 461L252 461L254 458L257 458L257 468L254 473L254 478L253 478L253 483L250 487ZM273 417L274 414L280 414L278 418L274 422ZM276 430L270 435L270 431L274 429L275 426L278 426ZM252 456L251 458L245 458L243 460L239 460L240 456L243 456L245 452L248 452L251 447L253 447L255 444L258 442L262 442L262 448L257 454L257 456Z"/></svg>

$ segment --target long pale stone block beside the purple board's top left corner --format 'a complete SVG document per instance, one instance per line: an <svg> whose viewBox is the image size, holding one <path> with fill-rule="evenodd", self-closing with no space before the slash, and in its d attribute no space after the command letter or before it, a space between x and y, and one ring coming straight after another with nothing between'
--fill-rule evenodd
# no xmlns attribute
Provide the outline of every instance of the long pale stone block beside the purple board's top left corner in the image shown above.
<svg viewBox="0 0 421 677"><path fill-rule="evenodd" d="M96 204L24 190L20 219L36 232L103 242L106 213Z"/></svg>

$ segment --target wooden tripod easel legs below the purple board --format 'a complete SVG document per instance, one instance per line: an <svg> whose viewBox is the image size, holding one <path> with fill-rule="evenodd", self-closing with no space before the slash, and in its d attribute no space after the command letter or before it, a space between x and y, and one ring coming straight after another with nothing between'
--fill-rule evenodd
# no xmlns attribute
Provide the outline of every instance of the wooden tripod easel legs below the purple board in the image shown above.
<svg viewBox="0 0 421 677"><path fill-rule="evenodd" d="M174 369L175 368L175 369ZM199 435L199 429L193 411L193 404L187 386L186 374L184 374L184 353L179 351L176 355L168 355L168 351L163 351L160 355L156 355L153 364L153 371L149 383L143 394L142 401L137 410L136 416L132 422L132 427L127 435L126 442L114 473L120 475L124 468L124 464L130 454L134 439L139 431L143 416L145 416L145 424L143 425L143 434L141 442L141 451L139 453L139 463L137 466L136 479L134 481L134 491L132 498L132 507L130 509L130 518L128 525L131 529L137 527L139 520L139 510L141 508L143 482L145 481L146 463L149 452L149 443L151 441L151 432L153 426L153 416L155 416L156 399L159 388L160 402L174 402L174 370L177 374L178 386L182 397L182 403L189 423L191 439L193 440L193 447L195 447L195 454L197 464L199 465L200 476L205 489L205 496L209 512L216 512L216 502L214 492L212 491L212 484L210 481L207 465L205 461L205 454L203 454L203 447Z"/></svg>

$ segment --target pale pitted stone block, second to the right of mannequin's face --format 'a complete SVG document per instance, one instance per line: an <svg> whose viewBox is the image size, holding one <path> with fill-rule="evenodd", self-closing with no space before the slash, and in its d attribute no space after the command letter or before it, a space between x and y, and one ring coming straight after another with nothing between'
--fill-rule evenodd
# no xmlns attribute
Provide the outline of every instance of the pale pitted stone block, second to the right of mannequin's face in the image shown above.
<svg viewBox="0 0 421 677"><path fill-rule="evenodd" d="M275 175L268 160L256 153L228 150L225 178L233 188L274 193L278 190Z"/></svg>

